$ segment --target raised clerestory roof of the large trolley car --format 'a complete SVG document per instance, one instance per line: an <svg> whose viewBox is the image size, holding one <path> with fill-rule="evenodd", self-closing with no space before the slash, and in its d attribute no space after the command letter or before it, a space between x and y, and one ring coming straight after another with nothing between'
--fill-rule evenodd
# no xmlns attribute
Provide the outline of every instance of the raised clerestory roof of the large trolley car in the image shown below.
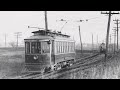
<svg viewBox="0 0 120 90"><path fill-rule="evenodd" d="M25 40L68 40L68 41L73 41L70 39L69 35L62 34L61 32L51 32L50 30L39 30L39 31L34 31L33 36L25 39Z"/></svg>

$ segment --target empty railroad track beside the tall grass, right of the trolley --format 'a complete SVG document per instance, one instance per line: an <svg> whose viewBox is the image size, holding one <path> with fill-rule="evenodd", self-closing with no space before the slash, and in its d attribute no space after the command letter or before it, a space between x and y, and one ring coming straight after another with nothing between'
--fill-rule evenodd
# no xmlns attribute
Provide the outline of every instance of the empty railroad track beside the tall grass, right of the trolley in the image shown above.
<svg viewBox="0 0 120 90"><path fill-rule="evenodd" d="M110 55L108 59L112 59L112 58L113 58L113 56ZM79 64L77 64L77 65L75 65L73 67L67 68L64 71L58 71L58 72L56 72L54 74L45 75L42 78L36 77L34 79L58 79L60 76L64 76L66 74L70 74L70 73L73 73L73 72L78 72L79 70L88 69L88 68L90 68L90 67L92 67L94 65L98 65L98 64L100 64L100 62L104 61L104 60L102 61L101 59L104 59L104 57L100 56L100 58L97 57L95 60L93 60L91 58L91 60L89 59L89 62L87 61L85 63L79 63Z"/></svg>

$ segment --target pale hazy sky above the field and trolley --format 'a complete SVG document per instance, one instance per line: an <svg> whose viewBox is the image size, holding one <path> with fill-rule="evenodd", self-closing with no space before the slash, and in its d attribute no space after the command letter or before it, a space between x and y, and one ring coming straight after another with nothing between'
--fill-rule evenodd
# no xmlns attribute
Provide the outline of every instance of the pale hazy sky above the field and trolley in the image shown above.
<svg viewBox="0 0 120 90"><path fill-rule="evenodd" d="M79 26L83 43L92 43L92 34L94 43L97 43L97 35L99 43L106 38L108 16L101 14L101 11L48 11L47 13L48 28L70 35L76 43L79 43ZM60 19L68 20L68 23L65 24L65 22L59 21ZM88 19L87 22L76 22L77 20L86 19ZM111 19L110 34L112 34L112 42L112 29L116 27L113 22L114 19L120 19L120 15L113 15ZM65 26L61 30L64 24ZM28 28L28 26L44 28L44 11L0 11L0 45L5 45L5 34L7 35L7 44L16 42L15 32L22 32L19 43L24 43L24 39L31 36L32 31L38 30Z"/></svg>

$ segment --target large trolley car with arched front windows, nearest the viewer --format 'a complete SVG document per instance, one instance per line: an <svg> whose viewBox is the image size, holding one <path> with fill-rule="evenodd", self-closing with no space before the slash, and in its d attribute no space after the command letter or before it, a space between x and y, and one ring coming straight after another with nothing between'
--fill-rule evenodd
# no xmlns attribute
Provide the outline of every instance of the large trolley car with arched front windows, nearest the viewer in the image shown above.
<svg viewBox="0 0 120 90"><path fill-rule="evenodd" d="M28 71L59 70L75 60L75 41L69 35L50 30L32 32L25 39L25 67Z"/></svg>

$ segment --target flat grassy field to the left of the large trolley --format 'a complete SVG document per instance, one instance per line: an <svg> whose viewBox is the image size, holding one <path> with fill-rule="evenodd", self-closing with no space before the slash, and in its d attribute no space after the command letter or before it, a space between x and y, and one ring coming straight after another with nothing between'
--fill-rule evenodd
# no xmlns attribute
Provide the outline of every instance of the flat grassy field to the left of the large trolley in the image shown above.
<svg viewBox="0 0 120 90"><path fill-rule="evenodd" d="M24 68L24 49L0 49L0 79L16 76Z"/></svg>

